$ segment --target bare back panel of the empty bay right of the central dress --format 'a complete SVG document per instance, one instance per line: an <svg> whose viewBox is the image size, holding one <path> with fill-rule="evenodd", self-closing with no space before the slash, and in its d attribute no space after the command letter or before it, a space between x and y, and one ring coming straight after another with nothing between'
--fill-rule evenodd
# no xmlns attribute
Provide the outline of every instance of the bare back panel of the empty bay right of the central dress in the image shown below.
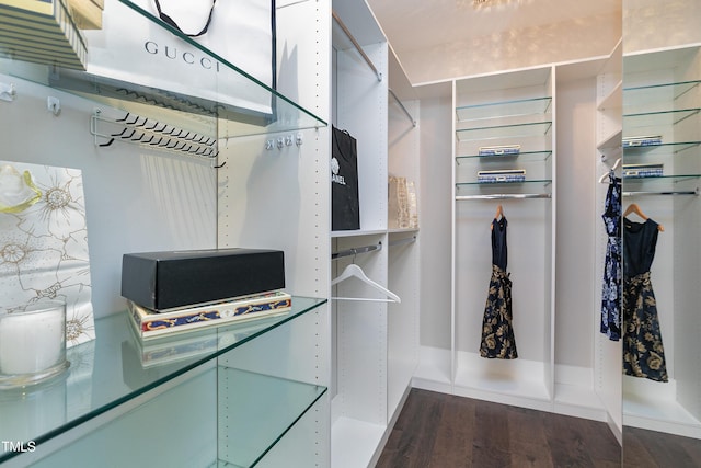
<svg viewBox="0 0 701 468"><path fill-rule="evenodd" d="M558 83L558 243L555 250L555 364L591 367L595 289L594 239L604 207L594 206L596 79Z"/></svg>

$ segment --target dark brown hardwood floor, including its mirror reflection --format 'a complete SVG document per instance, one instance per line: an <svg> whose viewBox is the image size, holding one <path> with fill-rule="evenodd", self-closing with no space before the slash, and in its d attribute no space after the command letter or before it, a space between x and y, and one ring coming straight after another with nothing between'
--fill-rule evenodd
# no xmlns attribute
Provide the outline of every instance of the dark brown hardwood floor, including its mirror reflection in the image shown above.
<svg viewBox="0 0 701 468"><path fill-rule="evenodd" d="M701 441L625 427L624 467L701 467ZM602 422L412 389L378 468L621 468Z"/></svg>

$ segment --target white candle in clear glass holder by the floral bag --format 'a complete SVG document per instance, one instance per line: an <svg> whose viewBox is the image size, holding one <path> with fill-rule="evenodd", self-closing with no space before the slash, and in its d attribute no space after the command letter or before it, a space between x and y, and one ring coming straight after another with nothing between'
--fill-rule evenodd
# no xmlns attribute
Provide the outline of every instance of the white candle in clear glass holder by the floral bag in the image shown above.
<svg viewBox="0 0 701 468"><path fill-rule="evenodd" d="M69 365L64 303L45 301L0 316L0 388L37 384Z"/></svg>

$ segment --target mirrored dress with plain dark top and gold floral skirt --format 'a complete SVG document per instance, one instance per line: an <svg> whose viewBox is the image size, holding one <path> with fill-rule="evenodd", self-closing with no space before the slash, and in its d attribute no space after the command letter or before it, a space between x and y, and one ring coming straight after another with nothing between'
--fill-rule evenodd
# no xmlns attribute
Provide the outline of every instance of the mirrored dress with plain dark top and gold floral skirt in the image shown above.
<svg viewBox="0 0 701 468"><path fill-rule="evenodd" d="M623 218L623 372L667 381L657 304L650 269L657 246L658 225L647 218Z"/></svg>

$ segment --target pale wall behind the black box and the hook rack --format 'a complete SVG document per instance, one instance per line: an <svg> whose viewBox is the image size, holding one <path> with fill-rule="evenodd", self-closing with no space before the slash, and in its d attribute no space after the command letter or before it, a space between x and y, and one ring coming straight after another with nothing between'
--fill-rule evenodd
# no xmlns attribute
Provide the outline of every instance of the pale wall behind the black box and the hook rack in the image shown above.
<svg viewBox="0 0 701 468"><path fill-rule="evenodd" d="M208 162L122 141L96 147L94 102L14 77L0 82L18 92L0 101L0 159L82 171L96 318L126 307L124 253L216 247L217 171ZM47 110L49 95L60 100L58 116Z"/></svg>

